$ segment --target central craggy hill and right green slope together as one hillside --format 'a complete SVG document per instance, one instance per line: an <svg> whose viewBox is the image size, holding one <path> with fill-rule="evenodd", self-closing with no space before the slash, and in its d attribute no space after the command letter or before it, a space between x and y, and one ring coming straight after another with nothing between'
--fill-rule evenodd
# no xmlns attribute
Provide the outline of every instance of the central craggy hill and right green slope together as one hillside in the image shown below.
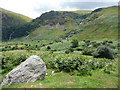
<svg viewBox="0 0 120 90"><path fill-rule="evenodd" d="M90 11L51 11L34 20L40 24L24 40L63 40L76 38L118 39L118 7Z"/></svg>

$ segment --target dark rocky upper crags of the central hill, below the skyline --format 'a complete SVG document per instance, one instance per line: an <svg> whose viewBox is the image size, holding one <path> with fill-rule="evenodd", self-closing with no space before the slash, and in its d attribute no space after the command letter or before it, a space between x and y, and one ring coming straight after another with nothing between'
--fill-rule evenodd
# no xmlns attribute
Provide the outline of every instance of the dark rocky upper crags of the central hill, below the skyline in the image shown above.
<svg viewBox="0 0 120 90"><path fill-rule="evenodd" d="M80 19L81 16L85 14L68 11L50 11L43 13L40 17L34 19L33 21L38 22L41 25L52 26L56 25L57 23L64 25L65 23L76 23L76 20Z"/></svg>

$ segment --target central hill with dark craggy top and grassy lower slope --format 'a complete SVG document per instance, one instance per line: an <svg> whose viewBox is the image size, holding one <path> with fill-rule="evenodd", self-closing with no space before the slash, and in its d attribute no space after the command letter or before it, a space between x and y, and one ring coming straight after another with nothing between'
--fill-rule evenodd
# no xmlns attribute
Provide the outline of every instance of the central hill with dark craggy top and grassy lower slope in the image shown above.
<svg viewBox="0 0 120 90"><path fill-rule="evenodd" d="M77 11L76 11L77 12ZM79 12L79 11L78 11ZM26 36L25 40L61 40L68 38L71 33L79 29L79 22L85 19L88 14L67 11L50 11L42 14L33 20L40 24L32 33ZM86 12L86 13L84 13ZM89 12L88 12L89 13Z"/></svg>

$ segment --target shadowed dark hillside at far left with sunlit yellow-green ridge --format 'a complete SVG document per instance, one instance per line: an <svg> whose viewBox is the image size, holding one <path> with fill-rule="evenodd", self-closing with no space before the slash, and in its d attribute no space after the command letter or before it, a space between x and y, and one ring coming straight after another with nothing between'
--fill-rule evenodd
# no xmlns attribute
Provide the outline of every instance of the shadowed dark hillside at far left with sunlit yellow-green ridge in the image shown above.
<svg viewBox="0 0 120 90"><path fill-rule="evenodd" d="M14 13L5 9L0 9L2 12L2 38L10 40L15 29L22 26L32 19L18 13Z"/></svg>

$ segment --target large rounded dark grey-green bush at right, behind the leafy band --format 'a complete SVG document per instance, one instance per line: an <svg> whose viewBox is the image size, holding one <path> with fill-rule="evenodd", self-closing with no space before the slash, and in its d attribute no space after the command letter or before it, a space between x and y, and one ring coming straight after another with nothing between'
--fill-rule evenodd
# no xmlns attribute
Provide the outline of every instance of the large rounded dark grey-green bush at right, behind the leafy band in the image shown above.
<svg viewBox="0 0 120 90"><path fill-rule="evenodd" d="M97 48L95 52L93 52L93 57L95 58L108 58L108 59L114 59L114 53L111 50L110 47L106 45L102 45Z"/></svg>

